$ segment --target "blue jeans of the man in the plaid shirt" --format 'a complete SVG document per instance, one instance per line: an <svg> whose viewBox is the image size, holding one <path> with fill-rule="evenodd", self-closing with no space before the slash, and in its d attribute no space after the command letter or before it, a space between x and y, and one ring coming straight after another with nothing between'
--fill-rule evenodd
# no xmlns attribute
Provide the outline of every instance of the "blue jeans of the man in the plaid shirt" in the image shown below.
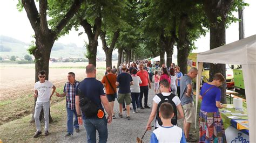
<svg viewBox="0 0 256 143"><path fill-rule="evenodd" d="M68 133L73 134L74 127L79 128L77 112L76 112L76 109L71 110L71 108L66 108L66 112L68 113L68 119L66 121L66 126L68 127ZM73 122L74 115L75 115L75 120Z"/></svg>

